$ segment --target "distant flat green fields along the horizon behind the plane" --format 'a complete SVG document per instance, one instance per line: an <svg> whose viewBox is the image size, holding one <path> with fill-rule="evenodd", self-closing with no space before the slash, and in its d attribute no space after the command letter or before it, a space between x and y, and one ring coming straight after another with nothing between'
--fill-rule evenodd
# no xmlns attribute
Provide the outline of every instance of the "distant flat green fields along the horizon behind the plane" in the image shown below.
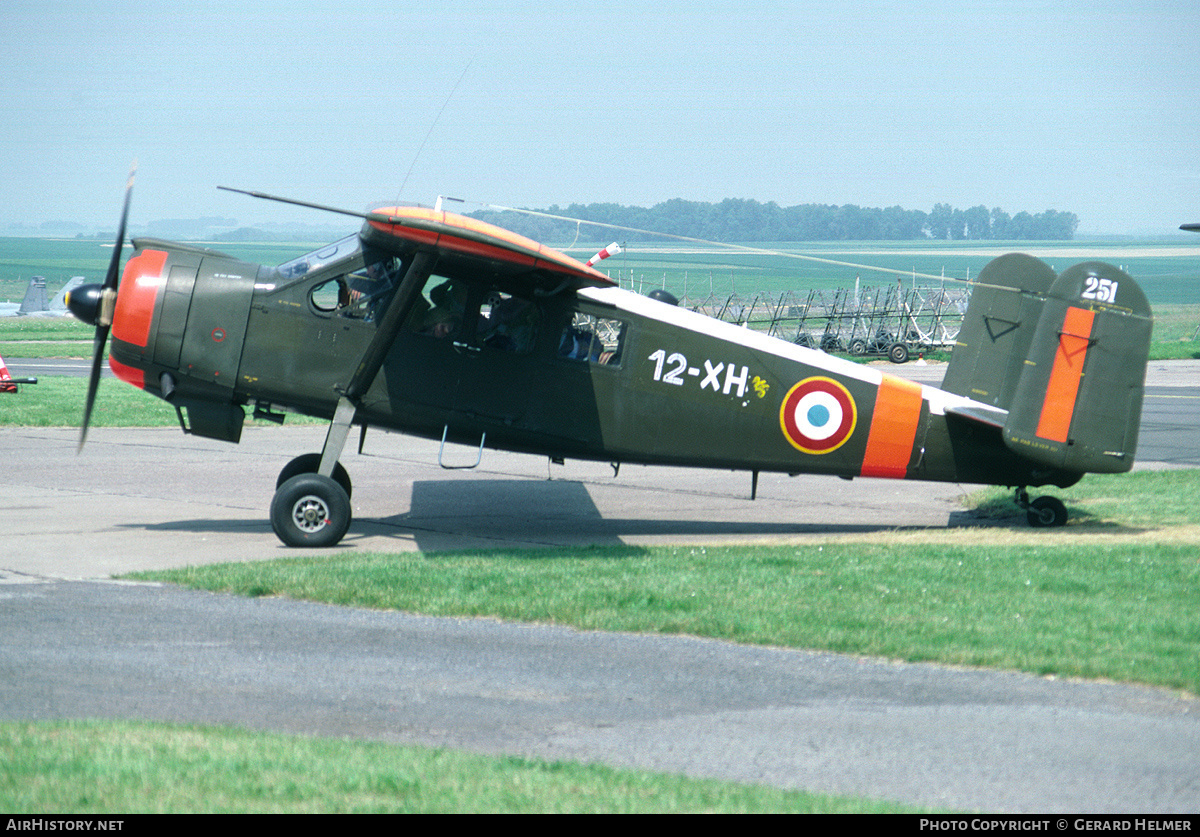
<svg viewBox="0 0 1200 837"><path fill-rule="evenodd" d="M611 239L546 242L588 259ZM200 242L254 264L278 264L325 241L296 243ZM666 287L677 296L808 291L911 284L913 272L970 279L1002 253L1020 251L1045 259L1055 270L1100 260L1115 264L1142 285L1151 305L1200 306L1200 239L1171 241L863 241L772 243L724 247L626 242L624 253L600 264L604 272L634 290ZM74 239L0 237L0 300L19 302L31 276L44 276L54 295L72 276L103 279L112 245ZM844 264L850 263L850 264ZM856 266L857 265L857 266ZM870 270L881 269L881 271ZM907 278L906 278L907 276ZM931 279L922 279L929 284Z"/></svg>

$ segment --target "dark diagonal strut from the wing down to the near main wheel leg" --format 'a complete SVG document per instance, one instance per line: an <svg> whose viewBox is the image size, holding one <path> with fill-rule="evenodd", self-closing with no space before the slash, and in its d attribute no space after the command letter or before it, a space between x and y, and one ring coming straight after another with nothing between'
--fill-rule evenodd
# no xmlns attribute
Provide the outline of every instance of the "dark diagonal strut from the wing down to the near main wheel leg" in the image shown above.
<svg viewBox="0 0 1200 837"><path fill-rule="evenodd" d="M396 294L391 297L391 302L388 303L388 308L379 320L374 337L371 338L367 350L362 353L362 360L359 361L354 374L350 375L349 383L344 387L338 387L341 398L337 399L337 409L334 413L334 420L329 422L325 445L320 450L320 466L317 472L322 476L331 477L334 475L334 468L337 465L342 450L346 447L346 439L350 434L350 424L354 423L359 399L371 389L376 375L379 374L384 359L388 357L388 353L391 351L396 336L400 333L400 326L408 317L408 312L413 309L416 297L420 296L421 287L433 270L434 261L437 261L434 253L418 253L413 258L404 272L404 278L401 279ZM366 426L362 427L362 432L366 433ZM361 441L359 450L361 451Z"/></svg>

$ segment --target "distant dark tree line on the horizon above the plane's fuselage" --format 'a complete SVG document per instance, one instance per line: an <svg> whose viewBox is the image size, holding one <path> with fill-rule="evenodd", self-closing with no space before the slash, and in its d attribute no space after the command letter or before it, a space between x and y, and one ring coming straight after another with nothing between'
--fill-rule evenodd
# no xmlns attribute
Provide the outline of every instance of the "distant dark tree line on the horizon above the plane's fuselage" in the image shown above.
<svg viewBox="0 0 1200 837"><path fill-rule="evenodd" d="M780 206L774 201L727 198L706 204L676 198L649 209L619 204L571 204L539 210L582 221L644 229L709 241L907 241L941 240L1069 240L1079 218L1074 212L1046 210L1039 215L1008 215L1001 209L954 209L937 204L930 212L900 206L870 209L846 204ZM473 212L473 217L498 224L538 241L575 237L575 224L506 211ZM583 237L600 235L586 230Z"/></svg>

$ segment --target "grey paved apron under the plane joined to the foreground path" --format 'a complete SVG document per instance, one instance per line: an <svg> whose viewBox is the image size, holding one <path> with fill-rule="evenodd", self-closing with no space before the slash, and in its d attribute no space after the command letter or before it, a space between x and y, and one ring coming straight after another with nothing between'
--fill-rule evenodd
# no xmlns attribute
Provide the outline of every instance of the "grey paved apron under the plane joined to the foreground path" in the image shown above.
<svg viewBox="0 0 1200 837"><path fill-rule="evenodd" d="M1151 369L1141 466L1200 466L1198 368ZM0 717L229 723L991 812L1200 809L1200 705L1163 690L103 580L295 554L266 505L278 469L323 436L96 428L76 456L74 430L0 429L17 534L0 542ZM450 472L437 444L374 432L344 464L350 550L811 543L972 523L958 505L970 486L763 475L751 502L743 474L614 477L496 452Z"/></svg>

